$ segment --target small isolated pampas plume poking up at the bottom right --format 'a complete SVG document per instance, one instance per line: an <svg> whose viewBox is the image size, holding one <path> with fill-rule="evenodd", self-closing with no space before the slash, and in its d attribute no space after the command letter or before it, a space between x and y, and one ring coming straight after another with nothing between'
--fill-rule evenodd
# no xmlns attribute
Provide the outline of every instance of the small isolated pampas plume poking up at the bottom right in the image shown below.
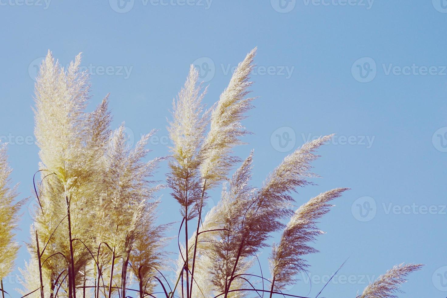
<svg viewBox="0 0 447 298"><path fill-rule="evenodd" d="M407 280L405 277L413 271L420 270L423 264L400 264L388 270L376 281L369 284L363 294L357 298L397 298L393 293L404 293L400 290L401 285Z"/></svg>

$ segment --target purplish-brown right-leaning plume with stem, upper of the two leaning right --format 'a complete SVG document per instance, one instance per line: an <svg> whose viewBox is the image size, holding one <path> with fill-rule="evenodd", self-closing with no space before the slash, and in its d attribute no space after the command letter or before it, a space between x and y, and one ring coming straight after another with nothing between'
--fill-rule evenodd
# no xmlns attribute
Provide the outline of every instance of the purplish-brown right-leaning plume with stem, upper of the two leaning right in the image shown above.
<svg viewBox="0 0 447 298"><path fill-rule="evenodd" d="M301 148L284 158L283 162L269 175L264 185L251 198L250 204L242 213L240 225L235 234L238 243L232 272L226 286L226 297L230 289L240 259L254 255L262 247L266 247L266 239L270 233L285 226L281 223L284 218L290 218L293 211L289 205L294 199L291 192L297 187L312 184L308 177L316 176L309 172L310 163L318 158L314 152L332 136L323 136L304 144Z"/></svg>

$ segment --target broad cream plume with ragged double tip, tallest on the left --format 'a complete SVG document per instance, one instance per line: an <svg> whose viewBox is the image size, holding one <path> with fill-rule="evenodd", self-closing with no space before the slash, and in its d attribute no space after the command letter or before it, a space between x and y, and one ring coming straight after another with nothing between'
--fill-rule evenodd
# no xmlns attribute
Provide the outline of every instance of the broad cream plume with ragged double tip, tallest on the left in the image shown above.
<svg viewBox="0 0 447 298"><path fill-rule="evenodd" d="M84 108L89 99L89 75L79 72L80 54L67 72L50 51L35 85L35 129L39 156L47 169L67 183L70 170L79 166L83 147Z"/></svg>

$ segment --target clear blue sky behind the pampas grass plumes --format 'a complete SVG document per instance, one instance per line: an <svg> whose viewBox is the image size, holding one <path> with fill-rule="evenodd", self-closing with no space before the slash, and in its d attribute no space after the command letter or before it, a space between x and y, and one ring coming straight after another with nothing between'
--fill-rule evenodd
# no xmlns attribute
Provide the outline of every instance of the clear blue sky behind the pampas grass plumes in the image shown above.
<svg viewBox="0 0 447 298"><path fill-rule="evenodd" d="M321 220L327 234L308 257L312 287L301 277L292 294L315 297L350 256L322 296L354 298L403 262L426 266L399 297L447 296L447 1L120 1L0 0L0 136L10 143L20 197L32 197L18 242L29 238L35 204L33 79L48 49L62 65L83 52L89 111L110 92L114 128L126 121L135 139L160 128L153 158L168 154L166 117L189 65L210 85L211 106L231 68L257 46L252 94L259 98L244 121L254 134L236 149L242 158L255 149L253 184L306 140L335 133L314 163L323 178L300 189L296 204L352 189ZM163 164L157 179L165 172ZM160 221L173 221L167 211L177 203L169 191L160 195ZM218 200L216 191L210 205ZM264 274L269 253L260 256ZM28 259L22 247L17 266ZM4 281L12 297L16 274Z"/></svg>

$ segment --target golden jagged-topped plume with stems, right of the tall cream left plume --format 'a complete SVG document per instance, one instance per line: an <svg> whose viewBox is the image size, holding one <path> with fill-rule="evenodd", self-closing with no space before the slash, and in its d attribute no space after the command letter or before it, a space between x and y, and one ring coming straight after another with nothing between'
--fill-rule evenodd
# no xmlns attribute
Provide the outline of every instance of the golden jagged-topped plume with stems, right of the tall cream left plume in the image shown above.
<svg viewBox="0 0 447 298"><path fill-rule="evenodd" d="M96 247L106 243L112 250L109 285L112 284L116 255L120 256L123 264L121 285L126 285L127 267L132 249L139 237L143 237L143 233L148 233L143 230L144 227L148 227L144 225L144 220L153 217L155 213L156 203L151 200L161 186L154 186L156 182L149 178L153 176L163 158L142 162L150 151L145 149L145 146L154 133L153 131L142 136L135 148L131 149L127 145L122 125L111 137L103 159L105 192L101 196L101 205L98 209L100 211L98 223L101 229L97 230ZM152 239L156 240L158 239ZM105 251L108 249L104 247ZM109 294L111 290L109 287ZM122 297L125 297L125 286L122 287Z"/></svg>

